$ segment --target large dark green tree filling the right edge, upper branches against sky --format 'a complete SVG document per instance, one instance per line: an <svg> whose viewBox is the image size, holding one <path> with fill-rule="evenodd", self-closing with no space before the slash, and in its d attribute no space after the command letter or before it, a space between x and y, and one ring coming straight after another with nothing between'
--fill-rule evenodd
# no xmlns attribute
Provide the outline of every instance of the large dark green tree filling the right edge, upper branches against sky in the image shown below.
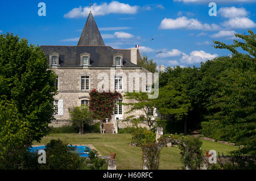
<svg viewBox="0 0 256 181"><path fill-rule="evenodd" d="M202 123L202 131L205 136L216 140L232 141L245 146L234 153L255 155L256 40L254 33L250 30L249 33L250 35L235 34L243 42L234 40L233 45L214 41L215 48L228 49L233 54L214 63L222 62L225 68L221 68L216 77L210 77L215 91L208 98L209 113L207 121ZM246 53L238 52L238 47Z"/></svg>

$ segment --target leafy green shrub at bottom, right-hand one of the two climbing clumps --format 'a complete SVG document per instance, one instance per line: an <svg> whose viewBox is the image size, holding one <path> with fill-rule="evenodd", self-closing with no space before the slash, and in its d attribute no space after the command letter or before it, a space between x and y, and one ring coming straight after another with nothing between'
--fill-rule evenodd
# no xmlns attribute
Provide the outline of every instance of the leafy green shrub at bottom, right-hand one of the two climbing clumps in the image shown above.
<svg viewBox="0 0 256 181"><path fill-rule="evenodd" d="M200 169L203 162L203 151L201 150L203 142L199 138L190 136L181 140L179 148L181 150L181 162L184 163L185 169Z"/></svg>

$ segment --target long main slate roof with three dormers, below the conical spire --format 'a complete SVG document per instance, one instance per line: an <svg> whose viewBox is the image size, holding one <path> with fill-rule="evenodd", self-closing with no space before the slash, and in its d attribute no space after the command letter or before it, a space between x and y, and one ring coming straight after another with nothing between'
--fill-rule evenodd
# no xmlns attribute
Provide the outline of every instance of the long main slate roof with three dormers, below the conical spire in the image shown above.
<svg viewBox="0 0 256 181"><path fill-rule="evenodd" d="M80 66L80 54L90 53L91 67L112 67L113 55L123 54L123 67L141 68L130 61L130 49L119 50L109 46L40 46L48 58L49 54L59 53L60 66ZM137 53L138 54L138 53Z"/></svg>

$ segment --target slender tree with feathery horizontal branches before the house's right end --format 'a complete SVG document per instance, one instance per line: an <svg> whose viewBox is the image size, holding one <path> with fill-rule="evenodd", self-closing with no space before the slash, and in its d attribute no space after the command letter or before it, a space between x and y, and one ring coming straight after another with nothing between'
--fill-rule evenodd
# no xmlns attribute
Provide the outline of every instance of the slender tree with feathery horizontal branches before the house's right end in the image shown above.
<svg viewBox="0 0 256 181"><path fill-rule="evenodd" d="M148 99L146 92L127 92L124 97L126 99L135 100L133 103L118 103L126 106L130 106L130 110L126 113L133 112L135 110L141 110L143 112L139 117L129 116L127 119L133 119L137 123L146 124L148 128L152 129L156 123L157 116L155 116L155 102L153 99Z"/></svg>

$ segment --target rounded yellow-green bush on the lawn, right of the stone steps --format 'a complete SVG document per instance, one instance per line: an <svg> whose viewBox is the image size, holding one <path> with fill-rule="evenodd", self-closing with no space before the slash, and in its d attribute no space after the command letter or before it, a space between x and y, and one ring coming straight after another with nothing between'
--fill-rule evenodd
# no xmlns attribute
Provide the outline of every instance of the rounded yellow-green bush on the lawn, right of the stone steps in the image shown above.
<svg viewBox="0 0 256 181"><path fill-rule="evenodd" d="M155 142L155 133L148 131L146 128L135 129L131 136L133 137L131 142L137 146L142 146L146 142Z"/></svg>

